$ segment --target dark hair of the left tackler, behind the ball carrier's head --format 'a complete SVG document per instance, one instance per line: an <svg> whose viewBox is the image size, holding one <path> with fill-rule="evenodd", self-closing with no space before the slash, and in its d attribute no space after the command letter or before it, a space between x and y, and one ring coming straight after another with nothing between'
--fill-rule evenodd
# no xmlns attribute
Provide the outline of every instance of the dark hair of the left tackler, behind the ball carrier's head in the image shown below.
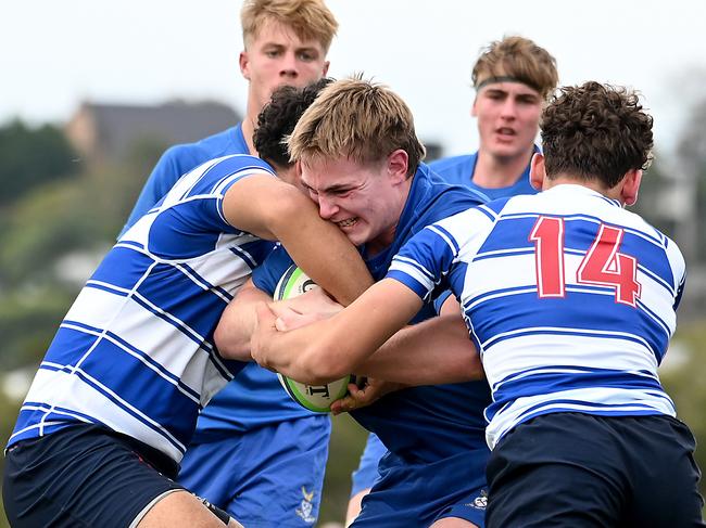
<svg viewBox="0 0 706 528"><path fill-rule="evenodd" d="M257 115L257 128L253 133L253 144L261 158L277 167L292 165L285 141L318 92L332 81L323 78L304 88L281 86L273 92L269 102Z"/></svg>

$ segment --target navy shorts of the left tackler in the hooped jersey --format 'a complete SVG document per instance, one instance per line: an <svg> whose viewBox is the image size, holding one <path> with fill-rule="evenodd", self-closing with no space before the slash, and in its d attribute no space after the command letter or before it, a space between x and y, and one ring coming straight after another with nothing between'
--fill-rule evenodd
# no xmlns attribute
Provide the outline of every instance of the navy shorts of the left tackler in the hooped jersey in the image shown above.
<svg viewBox="0 0 706 528"><path fill-rule="evenodd" d="M129 527L157 499L184 489L169 478L175 471L141 442L94 425L67 426L8 450L5 514L14 528Z"/></svg>

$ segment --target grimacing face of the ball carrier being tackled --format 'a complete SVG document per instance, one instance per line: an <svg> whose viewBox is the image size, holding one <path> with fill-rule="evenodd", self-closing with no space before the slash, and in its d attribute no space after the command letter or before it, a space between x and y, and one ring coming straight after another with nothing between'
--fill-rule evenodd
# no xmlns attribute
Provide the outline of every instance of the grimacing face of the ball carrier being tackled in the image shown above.
<svg viewBox="0 0 706 528"><path fill-rule="evenodd" d="M315 160L302 164L301 178L320 217L336 223L353 244L367 244L375 252L391 243L406 194L400 193L400 179L390 176L384 160Z"/></svg>

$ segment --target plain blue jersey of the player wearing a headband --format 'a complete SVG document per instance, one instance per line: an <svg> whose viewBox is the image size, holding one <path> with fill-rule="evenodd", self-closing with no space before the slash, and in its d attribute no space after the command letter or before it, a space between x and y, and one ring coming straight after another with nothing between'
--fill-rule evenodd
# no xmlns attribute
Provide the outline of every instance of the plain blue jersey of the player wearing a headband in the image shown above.
<svg viewBox="0 0 706 528"><path fill-rule="evenodd" d="M535 146L534 152L539 152ZM517 181L509 186L499 189L482 188L474 183L474 172L476 171L476 162L478 162L478 152L463 156L453 156L444 159L438 159L429 164L431 169L441 176L449 183L464 185L468 189L486 194L490 199L503 198L505 196L515 196L517 194L535 194L537 190L530 184L529 172L530 165L519 176Z"/></svg>

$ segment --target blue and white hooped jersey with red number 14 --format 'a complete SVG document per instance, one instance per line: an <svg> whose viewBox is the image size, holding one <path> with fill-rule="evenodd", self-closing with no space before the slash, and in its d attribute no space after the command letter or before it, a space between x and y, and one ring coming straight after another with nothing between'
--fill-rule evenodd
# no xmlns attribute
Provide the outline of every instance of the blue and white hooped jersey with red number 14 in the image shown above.
<svg viewBox="0 0 706 528"><path fill-rule="evenodd" d="M657 376L684 284L677 245L582 185L491 202L417 234L388 276L447 281L493 392L492 448L540 414L676 415Z"/></svg>

